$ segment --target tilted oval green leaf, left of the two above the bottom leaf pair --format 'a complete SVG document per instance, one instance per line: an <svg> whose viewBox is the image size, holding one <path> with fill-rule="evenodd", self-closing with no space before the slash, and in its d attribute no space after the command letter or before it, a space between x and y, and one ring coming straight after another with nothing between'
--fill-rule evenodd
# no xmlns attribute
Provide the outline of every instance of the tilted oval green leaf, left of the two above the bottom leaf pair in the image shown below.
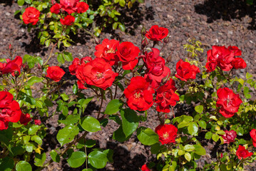
<svg viewBox="0 0 256 171"><path fill-rule="evenodd" d="M78 126L75 126L73 124L66 125L65 128L58 131L57 134L57 140L60 142L61 146L71 142L73 138L75 138L76 135L79 133Z"/></svg>

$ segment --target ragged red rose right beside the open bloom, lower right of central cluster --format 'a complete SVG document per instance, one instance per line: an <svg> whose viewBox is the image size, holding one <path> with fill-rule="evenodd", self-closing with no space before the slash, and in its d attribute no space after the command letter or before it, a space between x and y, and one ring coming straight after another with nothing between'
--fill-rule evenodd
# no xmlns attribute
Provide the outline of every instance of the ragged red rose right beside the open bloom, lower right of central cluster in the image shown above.
<svg viewBox="0 0 256 171"><path fill-rule="evenodd" d="M170 79L165 85L158 88L155 103L157 103L156 110L158 112L169 113L170 105L176 105L176 101L180 100L179 96L175 93L175 82Z"/></svg>

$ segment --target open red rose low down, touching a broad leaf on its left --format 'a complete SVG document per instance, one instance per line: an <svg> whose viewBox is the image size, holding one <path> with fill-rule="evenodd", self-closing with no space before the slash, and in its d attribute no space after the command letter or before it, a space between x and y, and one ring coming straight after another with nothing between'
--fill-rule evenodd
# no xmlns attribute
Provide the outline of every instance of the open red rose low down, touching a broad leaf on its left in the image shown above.
<svg viewBox="0 0 256 171"><path fill-rule="evenodd" d="M171 142L175 142L175 138L177 137L178 129L174 125L158 125L155 128L155 133L159 136L159 141L164 144L170 144Z"/></svg>

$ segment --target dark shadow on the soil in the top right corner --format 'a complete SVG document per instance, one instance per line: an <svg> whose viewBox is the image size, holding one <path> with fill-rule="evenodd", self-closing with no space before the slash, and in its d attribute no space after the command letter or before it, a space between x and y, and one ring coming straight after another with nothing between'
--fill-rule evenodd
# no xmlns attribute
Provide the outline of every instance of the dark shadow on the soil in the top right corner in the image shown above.
<svg viewBox="0 0 256 171"><path fill-rule="evenodd" d="M230 21L231 19L242 19L245 16L251 18L248 29L255 30L255 9L256 1L248 5L245 0L207 0L203 4L195 5L195 12L208 16L208 23L213 23L217 19Z"/></svg>

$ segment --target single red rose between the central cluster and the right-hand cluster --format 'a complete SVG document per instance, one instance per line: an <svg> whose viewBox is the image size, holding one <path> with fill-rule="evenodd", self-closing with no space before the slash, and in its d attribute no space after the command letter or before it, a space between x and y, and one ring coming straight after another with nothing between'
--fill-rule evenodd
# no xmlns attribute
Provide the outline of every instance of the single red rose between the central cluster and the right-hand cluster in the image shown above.
<svg viewBox="0 0 256 171"><path fill-rule="evenodd" d="M175 77L180 78L182 81L188 81L189 79L195 79L197 73L200 73L200 69L195 65L190 65L188 62L184 62L182 59L176 64Z"/></svg>

